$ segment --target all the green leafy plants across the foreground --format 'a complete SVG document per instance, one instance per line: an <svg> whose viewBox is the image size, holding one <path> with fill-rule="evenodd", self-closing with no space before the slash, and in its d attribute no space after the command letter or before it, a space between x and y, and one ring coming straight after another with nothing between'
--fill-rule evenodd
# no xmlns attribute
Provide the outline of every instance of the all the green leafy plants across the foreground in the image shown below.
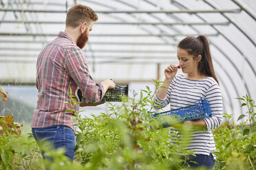
<svg viewBox="0 0 256 170"><path fill-rule="evenodd" d="M72 96L71 96L72 97ZM118 106L110 104L111 114L101 113L93 117L81 117L74 112L77 122L76 156L73 164L63 155L63 149L47 151L53 162L43 162L39 148L31 134L4 134L0 136L0 169L186 169L186 163L177 153L191 152L182 149L182 143L169 143L169 128L161 128L157 121L149 121L153 92L142 90L140 100L122 98ZM255 169L255 104L248 96L239 98L248 107L243 119L248 121L229 123L228 120L214 130L217 147L215 169ZM76 101L70 103L75 106ZM74 111L74 110L73 110ZM157 129L154 127L158 127ZM189 138L191 127L181 125L181 138ZM30 136L28 138L28 136ZM184 140L187 141L187 140Z"/></svg>

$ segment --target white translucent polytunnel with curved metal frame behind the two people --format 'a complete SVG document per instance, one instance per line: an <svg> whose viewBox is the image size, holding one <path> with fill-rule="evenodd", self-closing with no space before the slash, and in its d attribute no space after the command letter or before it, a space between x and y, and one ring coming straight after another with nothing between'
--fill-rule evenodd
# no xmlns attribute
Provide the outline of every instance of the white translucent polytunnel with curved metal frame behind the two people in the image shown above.
<svg viewBox="0 0 256 170"><path fill-rule="evenodd" d="M0 105L1 115L17 108L19 115L32 116L36 58L65 29L66 12L75 3L88 5L98 15L83 49L96 82L111 78L116 84L129 84L136 93L145 86L153 88L152 80L163 80L164 69L178 64L178 42L204 35L224 112L239 117L245 110L235 98L256 98L256 1L1 0L0 84L10 93L6 106ZM23 106L30 110L19 108Z"/></svg>

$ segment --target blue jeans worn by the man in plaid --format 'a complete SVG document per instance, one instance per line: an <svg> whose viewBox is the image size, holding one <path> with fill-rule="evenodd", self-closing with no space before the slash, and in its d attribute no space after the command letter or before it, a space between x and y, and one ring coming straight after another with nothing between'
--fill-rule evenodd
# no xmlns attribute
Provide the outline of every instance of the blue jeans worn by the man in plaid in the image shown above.
<svg viewBox="0 0 256 170"><path fill-rule="evenodd" d="M64 147L65 155L73 162L76 140L72 128L66 125L52 125L32 128L32 133L41 150L44 148L51 150ZM50 159L45 157L43 150L42 156L44 159Z"/></svg>

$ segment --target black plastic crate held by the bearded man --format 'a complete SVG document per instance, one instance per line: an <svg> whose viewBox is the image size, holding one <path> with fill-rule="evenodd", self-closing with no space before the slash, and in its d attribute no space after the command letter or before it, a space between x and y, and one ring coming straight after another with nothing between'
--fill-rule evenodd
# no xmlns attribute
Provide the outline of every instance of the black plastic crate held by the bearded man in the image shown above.
<svg viewBox="0 0 256 170"><path fill-rule="evenodd" d="M120 96L128 95L129 86L118 86L116 88L107 90L103 99L101 101L121 101ZM85 101L85 97L83 96L81 90L78 89L77 95L80 101Z"/></svg>

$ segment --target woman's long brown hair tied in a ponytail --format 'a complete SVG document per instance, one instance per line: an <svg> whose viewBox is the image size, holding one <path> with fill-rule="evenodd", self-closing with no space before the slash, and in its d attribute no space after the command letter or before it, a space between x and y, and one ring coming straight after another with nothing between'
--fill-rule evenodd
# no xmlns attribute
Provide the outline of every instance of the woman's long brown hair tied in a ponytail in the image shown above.
<svg viewBox="0 0 256 170"><path fill-rule="evenodd" d="M198 71L202 75L213 77L217 84L219 84L213 69L209 42L205 36L198 36L197 38L193 36L186 37L180 41L178 48L185 49L193 58L201 55L202 59L198 63Z"/></svg>

